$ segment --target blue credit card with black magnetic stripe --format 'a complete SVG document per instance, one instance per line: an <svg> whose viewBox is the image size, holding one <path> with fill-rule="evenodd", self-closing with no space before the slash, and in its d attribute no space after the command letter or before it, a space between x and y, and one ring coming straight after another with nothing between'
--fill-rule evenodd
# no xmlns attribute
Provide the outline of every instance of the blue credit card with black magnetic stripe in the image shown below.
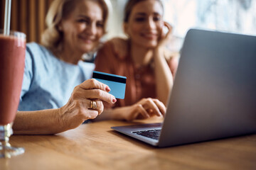
<svg viewBox="0 0 256 170"><path fill-rule="evenodd" d="M97 79L97 81L100 81L103 84L107 84L107 86L110 87L110 94L112 94L115 98L124 99L126 77L94 71L92 78Z"/></svg>

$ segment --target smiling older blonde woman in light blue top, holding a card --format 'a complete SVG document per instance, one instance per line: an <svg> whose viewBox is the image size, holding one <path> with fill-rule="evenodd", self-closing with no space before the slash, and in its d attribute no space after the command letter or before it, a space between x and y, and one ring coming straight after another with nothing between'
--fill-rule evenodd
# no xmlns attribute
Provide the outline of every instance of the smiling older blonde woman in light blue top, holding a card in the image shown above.
<svg viewBox="0 0 256 170"><path fill-rule="evenodd" d="M42 44L28 43L14 134L55 134L78 127L115 103L110 88L89 79L93 65L80 61L105 34L105 0L55 0ZM87 80L86 80L87 79ZM86 80L86 81L85 81Z"/></svg>

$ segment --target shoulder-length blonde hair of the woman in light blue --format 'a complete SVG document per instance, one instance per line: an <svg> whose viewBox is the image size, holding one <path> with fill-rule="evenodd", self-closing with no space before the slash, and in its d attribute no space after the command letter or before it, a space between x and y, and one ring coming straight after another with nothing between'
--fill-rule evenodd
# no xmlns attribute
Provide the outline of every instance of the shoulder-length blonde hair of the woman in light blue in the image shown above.
<svg viewBox="0 0 256 170"><path fill-rule="evenodd" d="M63 18L67 18L74 10L76 1L80 0L55 0L50 4L46 15L47 28L41 36L41 44L48 47L52 52L58 53L62 50L63 33L59 30L58 25ZM104 30L106 30L110 2L107 0L93 1L97 1L102 7Z"/></svg>

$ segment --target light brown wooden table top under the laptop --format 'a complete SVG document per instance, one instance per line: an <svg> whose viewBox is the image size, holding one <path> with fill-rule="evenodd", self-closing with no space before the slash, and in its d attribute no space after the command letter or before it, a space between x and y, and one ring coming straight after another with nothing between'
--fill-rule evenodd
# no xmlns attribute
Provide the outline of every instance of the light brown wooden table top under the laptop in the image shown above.
<svg viewBox="0 0 256 170"><path fill-rule="evenodd" d="M149 121L148 121L149 122ZM102 121L58 135L14 135L25 154L0 159L0 169L256 169L256 135L157 149Z"/></svg>

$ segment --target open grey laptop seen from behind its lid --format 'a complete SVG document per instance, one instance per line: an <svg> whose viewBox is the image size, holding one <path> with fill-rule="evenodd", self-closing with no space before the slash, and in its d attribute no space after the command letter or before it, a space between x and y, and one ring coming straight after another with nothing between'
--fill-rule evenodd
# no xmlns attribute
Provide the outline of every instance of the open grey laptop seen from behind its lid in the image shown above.
<svg viewBox="0 0 256 170"><path fill-rule="evenodd" d="M163 123L112 127L156 147L256 132L256 37L188 30Z"/></svg>

